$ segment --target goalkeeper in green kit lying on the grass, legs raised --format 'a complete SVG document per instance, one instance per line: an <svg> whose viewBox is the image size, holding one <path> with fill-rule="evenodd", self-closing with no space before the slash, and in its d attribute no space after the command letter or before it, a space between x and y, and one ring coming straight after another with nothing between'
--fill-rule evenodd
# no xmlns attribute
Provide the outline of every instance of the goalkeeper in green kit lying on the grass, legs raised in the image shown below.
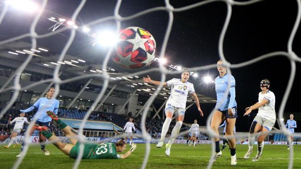
<svg viewBox="0 0 301 169"><path fill-rule="evenodd" d="M53 144L60 149L64 154L68 155L70 158L76 159L80 151L80 142L75 137L76 134L71 131L71 128L61 121L55 113L48 111L47 114L56 121L57 125L62 131L64 131L66 137L71 141L71 144L65 144L61 141L54 142ZM52 135L45 126L35 125L35 129L38 129L49 141L56 141L59 138ZM125 154L117 154L117 152L123 152L126 150L127 144L123 140L119 140L116 143L106 142L99 145L84 143L84 153L82 159L119 159L128 158L129 155L136 149L136 144L133 144L131 149Z"/></svg>

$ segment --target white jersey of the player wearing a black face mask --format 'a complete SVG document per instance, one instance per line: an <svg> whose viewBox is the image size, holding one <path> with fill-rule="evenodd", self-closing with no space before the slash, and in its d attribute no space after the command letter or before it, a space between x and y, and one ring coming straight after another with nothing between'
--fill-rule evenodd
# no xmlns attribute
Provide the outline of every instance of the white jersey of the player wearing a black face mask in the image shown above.
<svg viewBox="0 0 301 169"><path fill-rule="evenodd" d="M257 115L275 123L276 122L275 94L271 91L268 91L266 94L262 94L262 92L260 92L258 94L258 103L260 103L263 99L268 99L269 102L266 105L258 108Z"/></svg>

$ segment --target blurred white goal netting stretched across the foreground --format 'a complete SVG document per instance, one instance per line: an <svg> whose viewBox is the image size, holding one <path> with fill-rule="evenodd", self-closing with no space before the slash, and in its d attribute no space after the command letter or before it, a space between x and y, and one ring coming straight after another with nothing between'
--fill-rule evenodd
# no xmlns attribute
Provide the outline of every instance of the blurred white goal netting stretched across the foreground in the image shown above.
<svg viewBox="0 0 301 169"><path fill-rule="evenodd" d="M280 110L279 110L279 114L278 114L278 117L280 119L283 118L284 107L285 107L286 101L288 99L288 96L290 94L290 90L291 90L291 87L292 87L292 84L293 84L293 81L294 81L294 78L295 78L296 62L297 61L301 62L301 58L298 57L293 52L293 50L292 50L293 39L295 37L296 31L298 29L298 26L299 26L299 23L300 23L300 19L301 19L301 0L297 0L297 3L298 3L298 15L297 15L297 18L296 18L293 30L291 32L290 38L289 38L288 43L287 43L287 51L272 52L272 53L265 54L265 55L262 55L262 56L258 56L258 57L254 58L252 60L249 60L249 61L246 61L246 62L242 62L242 63L238 63L238 64L231 64L231 63L227 62L227 59L226 59L226 57L223 54L223 41L224 41L224 37L225 37L226 31L227 31L227 28L228 28L228 25L229 25L229 22L230 22L230 19L231 19L232 6L234 6L234 5L241 5L241 6L242 5L251 5L251 4L254 4L254 3L259 2L261 0L249 0L249 1L245 1L245 2L238 2L238 1L234 1L234 0L205 0L205 1L198 2L198 3L194 3L192 5L180 7L180 8L173 8L172 5L170 4L169 0L165 0L165 6L154 7L154 8L148 9L148 10L144 10L142 12L136 13L136 14L131 15L129 17L122 17L122 16L119 15L119 8L120 8L120 5L121 5L121 1L122 0L118 0L117 1L117 4L115 6L115 10L114 10L114 16L110 16L110 17L106 17L106 18L94 20L94 21L86 24L86 26L91 26L91 25L99 24L99 23L102 23L102 22L105 22L105 21L108 21L108 20L114 20L116 22L116 27L117 27L117 32L118 32L120 30L120 24L121 24L122 21L129 20L129 19L134 19L134 18L137 18L137 17L139 17L141 15L145 15L145 14L156 12L156 11L166 11L169 14L169 22L168 22L167 30L166 30L166 33L165 33L164 41L163 41L163 44L162 44L162 48L161 48L161 51L160 51L160 58L163 58L164 54L165 54L167 42L168 42L169 35L170 35L171 29L172 29L173 13L174 12L187 11L187 10L193 9L195 7L198 7L198 6L201 6L201 5L205 5L205 4L208 4L208 3L213 3L213 2L216 2L216 1L223 1L223 2L225 2L225 4L227 5L227 9L228 10L227 10L227 17L226 17L226 20L224 22L224 26L223 26L223 29L222 29L222 32L221 32L220 38L219 38L218 52L219 52L219 57L224 60L224 64L227 66L227 72L230 75L231 75L230 68L240 68L240 67L243 67L243 66L247 66L247 65L256 63L258 61L261 61L261 60L269 58L269 57L273 57L273 56L285 56L285 57L287 57L290 60L290 64L291 64L290 78L289 78L289 82L287 84L287 88L286 88L285 94L283 96L283 99L282 99L282 102L281 102L281 106L280 106ZM79 14L79 12L84 7L85 2L86 2L86 0L82 0L81 3L79 4L79 6L76 8L76 10L73 13L72 18L71 18L71 20L73 22L75 22L78 14ZM58 29L58 30L56 30L54 32L43 34L43 35L38 35L35 32L36 25L37 25L37 23L38 23L41 15L42 15L42 13L43 13L43 10L45 9L46 4L47 4L47 0L43 0L42 6L41 6L41 10L39 10L39 13L36 15L35 19L33 20L32 24L31 24L30 33L24 34L24 35L15 37L15 38L10 38L10 39L3 40L3 41L0 42L0 44L9 43L9 42L12 42L12 41L15 41L15 40L18 40L18 39L29 37L29 38L31 38L31 48L32 49L36 49L37 39L38 38L50 37L50 36L53 36L55 34L58 34L58 33L62 32L62 31L65 31L65 30L69 29L68 27L64 27L64 28ZM1 14L0 14L0 23L2 22L3 18L5 17L7 9L8 9L8 4L5 3L4 7L2 8ZM75 34L76 34L76 30L75 29L71 29L70 37L69 37L67 43L64 46L64 49L63 49L63 51L62 51L62 53L61 53L61 55L59 57L59 61L61 61L61 62L63 61L66 52L68 51L71 43L73 42ZM106 57L104 59L104 62L103 62L103 69L104 70L107 69L107 64L108 64L109 56L110 56L112 50L113 50L113 48L110 48L108 50L108 53L107 53L107 55L106 55ZM1 113L0 113L0 119L3 117L4 113L6 113L7 110L11 108L11 106L13 105L13 103L16 101L16 99L17 99L18 94L19 94L20 91L24 91L26 89L29 89L29 88L34 87L34 86L37 86L37 85L42 84L42 83L53 82L55 84L55 88L56 88L54 97L56 97L58 95L58 93L59 93L60 84L71 82L71 81L75 81L75 80L79 80L79 79L82 79L82 78L95 78L95 77L102 78L104 80L104 82L102 84L103 88L102 88L100 94L98 94L98 96L95 99L94 103L92 104L92 107L96 107L97 106L97 103L99 103L99 101L103 97L105 91L107 90L108 83L109 83L109 80L110 80L110 75L106 71L104 71L103 74L81 75L81 76L78 76L78 77L75 77L75 78L61 80L60 77L59 77L59 70L60 70L61 64L58 64L56 66L56 68L54 70L54 73L53 73L53 79L46 79L46 80L42 80L42 81L39 81L39 82L35 82L35 83L33 83L31 85L28 85L28 86L21 86L20 83L19 83L19 80L20 80L19 75L23 72L23 70L25 69L25 67L27 66L27 64L29 63L29 61L32 59L32 57L33 57L32 54L28 55L28 57L23 62L23 64L13 73L13 75L10 76L10 78L6 81L6 83L0 88L0 93L6 92L6 91L10 91L10 90L14 90L15 91L13 93L13 95L12 95L11 100L7 104L7 106L1 111ZM206 70L206 69L215 68L215 66L216 66L215 64L212 64L212 65L194 67L194 68L191 68L190 70L191 71ZM166 74L168 74L170 72L168 72L167 69L161 63L160 63L159 68L153 68L153 69L149 69L149 70L146 70L146 71L137 72L137 73L134 73L134 74L130 74L130 76L143 75L143 74L146 74L146 73L158 72L158 71L161 73L161 82L165 81ZM173 73L173 74L180 74L179 71L172 71L171 73ZM16 78L14 78L14 77L16 77ZM11 80L13 80L13 79L14 79L14 86L7 87L7 85L9 84L9 82ZM163 84L163 83L161 83L161 84ZM158 86L158 88L161 89L162 85ZM150 108L151 103L154 101L154 99L156 97L156 94L159 93L159 89L157 89L155 91L155 94L153 94L150 97L150 99L148 100L148 102L146 103L147 104L147 106L146 106L147 109L144 110L144 112L142 114L142 119L141 119L142 134L141 135L137 135L137 136L140 136L140 137L144 138L147 141L147 143L146 143L146 151L145 151L145 158L144 158L143 164L141 166L142 169L146 168L147 161L149 159L149 154L150 154L150 151L151 151L151 147L150 147L151 137L148 134L148 132L146 131L146 126L145 126L146 123L145 123L145 121L146 121L148 109ZM81 91L79 94L81 94L82 92L83 91ZM226 98L226 95L228 93L229 93L229 88L227 90L227 93L225 94L224 99ZM211 121L211 117L213 115L213 112L214 112L214 110L210 113L210 115L209 115L209 117L207 119L207 129L206 130L201 130L201 131L202 132L207 132L209 134L209 136L211 136L211 137L218 137L210 129L210 121ZM86 115L85 115L85 117L84 117L84 119L83 119L83 121L81 123L81 126L80 126L80 130L79 130L80 133L83 132L84 125L85 125L86 120L89 117L90 113L92 113L92 109L89 109L87 111L87 113L86 113ZM281 123L281 126L284 125L283 121L280 121L280 123ZM33 124L34 123L31 123L29 125L29 127L28 127L29 130L27 130L26 133L25 133L25 143L26 144L25 144L24 152L27 152L28 146L30 144L30 142L28 141L29 140L29 131L33 127ZM290 132L286 128L283 128L280 132L282 132L286 136L290 136L291 135ZM188 133L188 131L182 132L180 134L184 134L184 133ZM120 138L122 136L123 135L120 135L118 137ZM237 135L237 137L239 137L239 136L247 136L247 135L246 134L245 135ZM225 137L225 138L227 138L227 137ZM112 140L112 139L114 139L114 138L110 138L110 140ZM86 142L86 140L83 139L82 137L79 137L79 140L80 140L81 143L85 143ZM212 149L212 158L213 158L213 155L215 153L215 151L214 151L215 150L215 144L213 143L212 146L213 146L213 149ZM290 156L289 156L290 160L289 160L288 168L292 169L292 167L293 167L293 152L294 152L294 149L293 149L293 146L291 145L291 143L290 143L290 146L291 146L291 149L290 149ZM81 144L81 149L80 149L79 157L81 157L82 153L83 153L83 144ZM18 158L17 162L15 163L15 165L13 167L14 169L17 169L20 166L23 158L24 157ZM78 166L79 166L79 164L80 164L80 162L81 162L81 159L78 158L76 160L73 168L77 169ZM210 169L211 167L212 167L212 163L209 163L208 168Z"/></svg>

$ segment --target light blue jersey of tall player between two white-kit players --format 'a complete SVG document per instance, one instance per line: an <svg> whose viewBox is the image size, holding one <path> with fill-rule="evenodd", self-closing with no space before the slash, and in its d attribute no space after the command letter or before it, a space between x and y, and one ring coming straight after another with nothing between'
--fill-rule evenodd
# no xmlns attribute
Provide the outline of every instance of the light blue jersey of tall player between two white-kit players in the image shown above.
<svg viewBox="0 0 301 169"><path fill-rule="evenodd" d="M230 84L228 84L228 78L228 74L222 77L217 76L215 78L215 92L217 97L216 106L222 101L222 97L226 93L228 85L230 85L230 91L227 98L223 100L219 107L215 106L220 111L226 111L237 106L237 103L235 101L235 78L233 77L233 75L230 75Z"/></svg>

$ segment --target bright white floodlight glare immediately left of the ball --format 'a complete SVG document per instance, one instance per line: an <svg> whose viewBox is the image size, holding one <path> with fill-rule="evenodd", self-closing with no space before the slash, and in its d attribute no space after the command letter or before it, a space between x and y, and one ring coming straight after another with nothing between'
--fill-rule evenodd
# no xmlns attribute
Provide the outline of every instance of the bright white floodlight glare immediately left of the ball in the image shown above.
<svg viewBox="0 0 301 169"><path fill-rule="evenodd" d="M103 31L97 36L97 43L104 47L114 46L117 41L118 35L112 31Z"/></svg>

